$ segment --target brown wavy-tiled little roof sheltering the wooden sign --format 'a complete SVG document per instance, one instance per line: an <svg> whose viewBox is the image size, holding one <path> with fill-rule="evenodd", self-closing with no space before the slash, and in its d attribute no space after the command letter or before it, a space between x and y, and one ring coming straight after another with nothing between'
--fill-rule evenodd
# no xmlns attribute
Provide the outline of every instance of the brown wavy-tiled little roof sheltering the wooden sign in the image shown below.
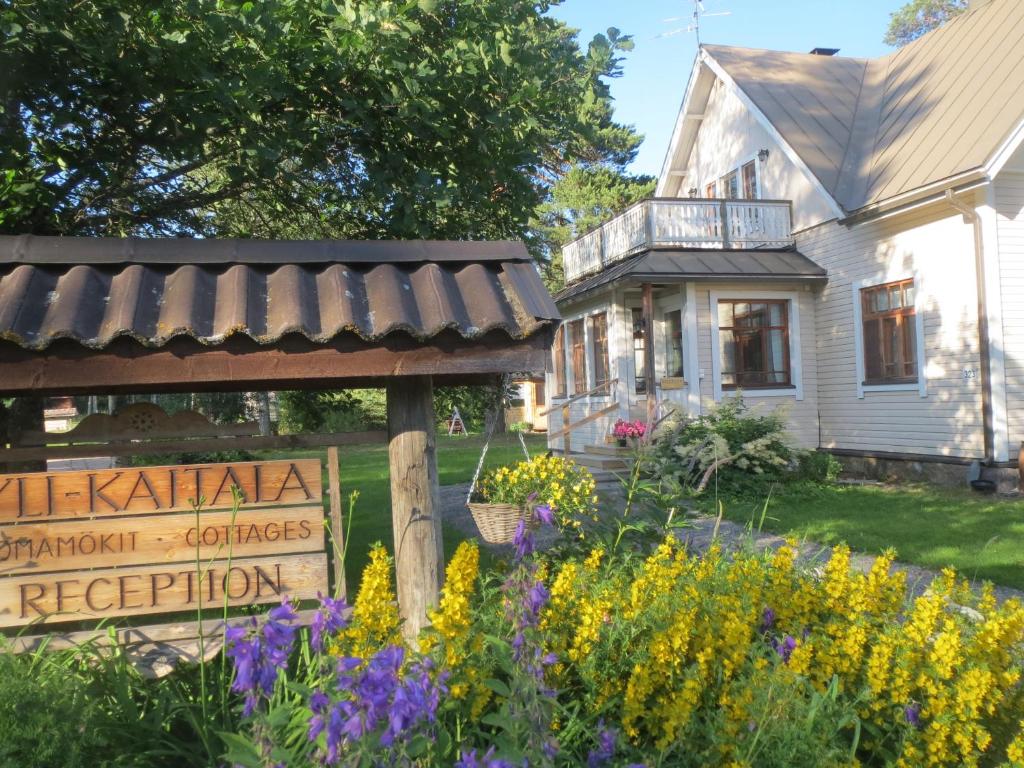
<svg viewBox="0 0 1024 768"><path fill-rule="evenodd" d="M519 243L0 237L0 340L32 350L120 337L522 339L558 319Z"/></svg>

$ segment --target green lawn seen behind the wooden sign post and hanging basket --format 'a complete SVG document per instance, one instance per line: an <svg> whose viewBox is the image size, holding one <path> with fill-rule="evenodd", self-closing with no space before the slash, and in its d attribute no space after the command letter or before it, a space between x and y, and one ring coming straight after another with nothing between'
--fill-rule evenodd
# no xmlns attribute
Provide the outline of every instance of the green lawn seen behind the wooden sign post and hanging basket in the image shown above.
<svg viewBox="0 0 1024 768"><path fill-rule="evenodd" d="M530 454L547 451L543 435L525 435ZM441 485L469 482L480 458L483 437L479 435L449 437L437 436L437 474ZM359 575L368 562L370 546L383 542L393 552L391 529L391 488L388 478L387 445L351 445L338 451L341 464L341 493L343 509L347 516L348 495L359 492L352 515L349 532L345 574L348 582L349 599L355 596ZM261 459L286 459L290 457L324 458L322 451L297 451L287 455L282 452L267 452ZM515 434L496 435L487 451L484 470L488 467L519 461L523 458L522 446ZM324 470L324 487L327 488L327 469ZM325 499L325 507L327 500ZM348 521L345 521L348 525ZM444 526L445 560L465 537L455 528Z"/></svg>

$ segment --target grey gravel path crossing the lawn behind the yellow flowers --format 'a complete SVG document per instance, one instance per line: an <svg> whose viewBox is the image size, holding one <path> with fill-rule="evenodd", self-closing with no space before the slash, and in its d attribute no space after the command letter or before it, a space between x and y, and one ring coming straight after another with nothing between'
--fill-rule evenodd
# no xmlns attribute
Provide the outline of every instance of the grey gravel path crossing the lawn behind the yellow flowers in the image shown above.
<svg viewBox="0 0 1024 768"><path fill-rule="evenodd" d="M479 531L476 528L476 523L473 522L473 517L466 508L466 494L468 490L469 483L441 486L441 513L445 523L457 528L464 536L476 537L479 539ZM612 489L610 493L606 490L605 493L608 494L609 497L612 497L609 501L614 503L614 490ZM617 501L621 502L621 497ZM691 549L697 552L706 552L715 540L716 522L717 521L714 517L692 515L689 518L689 527L682 529L679 532L679 537L682 541L686 542ZM756 531L752 535L745 527L728 520L722 520L718 523L717 536L726 550L736 550L741 547L753 547L757 551L765 549L775 550L784 544L784 540L780 536ZM538 548L543 549L546 545L550 544L551 541L552 537L550 534L545 536L543 529L538 532ZM482 540L480 541L480 544L500 557L509 557L512 554L511 546L486 544ZM815 542L801 542L798 545L797 550L799 553L799 559L811 566L815 563L825 562L831 555L830 546L817 544ZM861 571L867 571L871 567L871 563L874 562L874 556L854 552L850 557L850 561L854 568ZM938 572L935 570L923 568L920 565L911 565L910 563L897 562L894 567L906 572L907 587L913 595L924 593L931 585L932 580L938 575ZM999 600L1006 600L1011 597L1024 600L1024 592L1011 587L996 586L995 594Z"/></svg>

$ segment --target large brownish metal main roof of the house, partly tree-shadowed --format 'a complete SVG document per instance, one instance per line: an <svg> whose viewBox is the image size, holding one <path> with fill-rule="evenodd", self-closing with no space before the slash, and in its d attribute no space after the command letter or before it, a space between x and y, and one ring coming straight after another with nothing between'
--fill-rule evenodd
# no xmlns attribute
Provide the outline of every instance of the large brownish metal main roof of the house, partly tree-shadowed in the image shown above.
<svg viewBox="0 0 1024 768"><path fill-rule="evenodd" d="M877 59L707 45L847 211L977 170L1024 118L1024 3Z"/></svg>

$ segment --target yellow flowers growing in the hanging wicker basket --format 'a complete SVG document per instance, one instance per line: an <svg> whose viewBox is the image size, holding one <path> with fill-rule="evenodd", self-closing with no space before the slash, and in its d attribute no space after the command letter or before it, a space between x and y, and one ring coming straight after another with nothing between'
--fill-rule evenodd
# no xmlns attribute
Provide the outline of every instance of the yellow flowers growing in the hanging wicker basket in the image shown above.
<svg viewBox="0 0 1024 768"><path fill-rule="evenodd" d="M596 513L594 487L594 476L575 462L560 456L536 456L487 472L480 481L480 495L496 504L545 504L555 513L562 530L579 532L583 521Z"/></svg>

